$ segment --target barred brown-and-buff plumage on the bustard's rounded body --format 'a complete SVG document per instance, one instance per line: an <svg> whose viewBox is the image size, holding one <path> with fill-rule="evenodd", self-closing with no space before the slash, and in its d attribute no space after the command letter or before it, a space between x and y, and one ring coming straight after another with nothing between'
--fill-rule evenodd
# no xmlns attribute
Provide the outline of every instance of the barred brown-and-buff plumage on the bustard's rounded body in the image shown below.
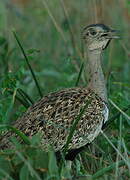
<svg viewBox="0 0 130 180"><path fill-rule="evenodd" d="M107 104L90 89L70 88L50 93L31 106L13 126L29 137L40 132L44 150L50 145L55 151L62 150L74 120L89 100L68 147L80 148L94 140L107 120L104 113ZM14 133L6 133L0 140L0 149L10 147L10 136Z"/></svg>

